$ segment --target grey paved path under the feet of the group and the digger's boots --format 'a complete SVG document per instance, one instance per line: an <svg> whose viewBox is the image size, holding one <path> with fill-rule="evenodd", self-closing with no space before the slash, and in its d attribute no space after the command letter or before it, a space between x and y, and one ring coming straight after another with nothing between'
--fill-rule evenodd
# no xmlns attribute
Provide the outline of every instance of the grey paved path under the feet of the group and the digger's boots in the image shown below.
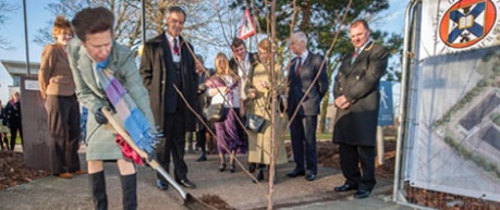
<svg viewBox="0 0 500 210"><path fill-rule="evenodd" d="M85 152L81 153L85 165ZM254 184L240 168L235 173L219 172L218 157L209 156L206 162L196 162L196 155L186 155L190 168L188 178L196 183L196 189L186 189L197 198L217 195L239 210L266 209L267 183ZM246 165L246 157L239 157ZM303 177L289 178L293 163L278 166L277 185L273 193L275 209L286 210L332 210L332 209L386 209L406 210L391 201L392 181L379 178L373 195L366 199L353 199L351 193L336 193L333 187L343 183L339 170L319 168L318 178L307 182ZM122 209L120 175L114 163L106 163L106 182L109 209ZM138 169L138 209L184 209L179 194L170 187L167 192L157 189L156 174L150 168ZM49 176L28 184L0 190L0 209L93 209L86 175L72 180Z"/></svg>

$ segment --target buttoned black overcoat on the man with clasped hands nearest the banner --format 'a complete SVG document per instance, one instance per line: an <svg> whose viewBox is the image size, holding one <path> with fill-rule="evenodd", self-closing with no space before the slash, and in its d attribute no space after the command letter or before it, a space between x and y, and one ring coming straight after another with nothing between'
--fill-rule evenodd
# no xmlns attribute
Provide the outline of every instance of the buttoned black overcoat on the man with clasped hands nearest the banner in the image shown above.
<svg viewBox="0 0 500 210"><path fill-rule="evenodd" d="M336 76L333 97L344 95L351 107L337 109L333 143L353 146L375 146L380 94L380 77L386 73L389 51L369 44L352 61L346 55Z"/></svg>

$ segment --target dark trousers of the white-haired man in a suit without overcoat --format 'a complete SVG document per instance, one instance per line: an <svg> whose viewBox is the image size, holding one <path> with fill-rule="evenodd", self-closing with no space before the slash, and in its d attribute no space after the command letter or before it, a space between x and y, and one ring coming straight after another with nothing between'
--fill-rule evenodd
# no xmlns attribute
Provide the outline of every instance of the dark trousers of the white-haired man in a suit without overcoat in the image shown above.
<svg viewBox="0 0 500 210"><path fill-rule="evenodd" d="M313 174L318 171L318 155L316 151L316 126L318 116L304 116L297 114L290 124L292 135L292 151L295 161L295 171L305 170ZM305 152L305 153L304 153ZM305 157L304 157L305 156ZM306 165L304 166L304 158Z"/></svg>

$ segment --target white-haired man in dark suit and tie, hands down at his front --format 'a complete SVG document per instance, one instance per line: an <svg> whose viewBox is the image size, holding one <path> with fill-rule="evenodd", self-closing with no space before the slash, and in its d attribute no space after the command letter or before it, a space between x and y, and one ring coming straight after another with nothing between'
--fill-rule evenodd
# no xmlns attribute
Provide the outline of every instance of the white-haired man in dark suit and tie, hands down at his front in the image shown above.
<svg viewBox="0 0 500 210"><path fill-rule="evenodd" d="M296 32L291 37L290 50L295 54L289 71L289 92L286 112L291 119L290 134L295 170L286 175L307 175L307 181L316 180L318 159L316 151L316 126L319 104L328 90L327 63L325 59L307 50L307 36ZM316 79L316 75L319 77ZM307 89L312 86L310 91ZM304 101L301 103L302 98ZM295 110L297 114L293 118ZM293 118L293 119L292 119ZM305 151L305 153L304 153ZM304 158L306 165L304 165Z"/></svg>

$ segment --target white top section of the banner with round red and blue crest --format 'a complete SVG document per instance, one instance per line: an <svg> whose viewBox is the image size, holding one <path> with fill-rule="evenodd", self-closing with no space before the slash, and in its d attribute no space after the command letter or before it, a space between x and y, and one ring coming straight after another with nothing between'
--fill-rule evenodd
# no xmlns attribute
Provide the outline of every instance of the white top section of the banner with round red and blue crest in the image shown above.
<svg viewBox="0 0 500 210"><path fill-rule="evenodd" d="M499 44L498 0L424 0L420 59Z"/></svg>

